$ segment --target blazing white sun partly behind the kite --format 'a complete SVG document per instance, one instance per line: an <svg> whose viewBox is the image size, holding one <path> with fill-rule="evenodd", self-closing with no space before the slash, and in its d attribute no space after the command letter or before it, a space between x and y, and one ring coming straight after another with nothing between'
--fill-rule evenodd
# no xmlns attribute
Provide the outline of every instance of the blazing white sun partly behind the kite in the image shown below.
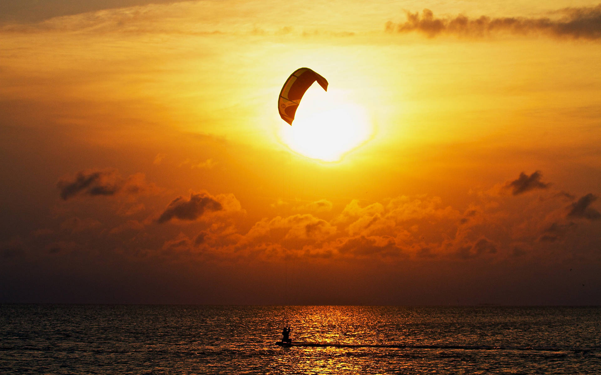
<svg viewBox="0 0 601 375"><path fill-rule="evenodd" d="M281 123L279 136L288 148L322 161L341 160L373 133L364 107L345 98L343 92L313 86L305 92L292 126Z"/></svg>

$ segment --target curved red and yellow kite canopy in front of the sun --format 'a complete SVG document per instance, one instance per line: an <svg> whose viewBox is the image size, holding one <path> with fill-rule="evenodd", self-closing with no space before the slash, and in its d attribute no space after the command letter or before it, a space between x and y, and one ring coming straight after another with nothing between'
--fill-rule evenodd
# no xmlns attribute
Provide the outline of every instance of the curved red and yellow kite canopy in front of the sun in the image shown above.
<svg viewBox="0 0 601 375"><path fill-rule="evenodd" d="M278 110L279 116L285 122L292 125L294 113L301 103L302 95L305 91L317 81L325 91L328 91L328 81L309 68L300 68L290 74L290 77L284 83L282 91L279 92Z"/></svg>

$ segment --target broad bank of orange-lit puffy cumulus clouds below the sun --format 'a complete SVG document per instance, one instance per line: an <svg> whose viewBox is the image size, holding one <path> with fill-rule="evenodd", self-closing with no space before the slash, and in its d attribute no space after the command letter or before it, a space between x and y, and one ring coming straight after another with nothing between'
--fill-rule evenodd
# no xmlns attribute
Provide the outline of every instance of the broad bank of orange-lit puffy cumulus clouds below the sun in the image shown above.
<svg viewBox="0 0 601 375"><path fill-rule="evenodd" d="M548 186L537 171L531 175L521 173L514 181L499 183L499 191L507 190L508 194L474 196L475 201L461 210L445 205L440 197L398 196L380 202L351 200L340 214L328 215L331 218L325 220L316 217L315 212L331 210L331 202L317 200L303 206L311 209L311 213L264 217L252 222L243 221L239 213L245 211L233 194L214 196L201 191L173 199L147 221L106 222L103 227L109 228L105 232L111 235L112 241L130 236L129 243L139 244L139 251L152 252L154 248L157 250L154 254L159 257L172 254L169 256L226 262L281 260L290 256L315 262L336 258L345 262L370 259L376 262L488 259L492 262L514 259L518 255L537 256L541 251L549 254L557 250L559 241L561 246L569 246L570 233L589 229L572 224L576 220L566 220L566 215L590 220L601 217L591 208L596 198L593 194L578 201L567 201L569 194L555 194L555 191L547 194L552 199L526 194L522 199L514 199L525 191ZM525 200L529 203L524 204ZM567 202L573 202L568 210ZM180 229L176 226L156 227L153 233L156 235L148 237L146 231L150 223L172 220L198 223L184 227L185 233L179 236ZM64 223L63 228L72 232L84 230L84 224L99 226L99 223L81 220L71 220L68 224ZM243 232L240 226L249 229Z"/></svg>

